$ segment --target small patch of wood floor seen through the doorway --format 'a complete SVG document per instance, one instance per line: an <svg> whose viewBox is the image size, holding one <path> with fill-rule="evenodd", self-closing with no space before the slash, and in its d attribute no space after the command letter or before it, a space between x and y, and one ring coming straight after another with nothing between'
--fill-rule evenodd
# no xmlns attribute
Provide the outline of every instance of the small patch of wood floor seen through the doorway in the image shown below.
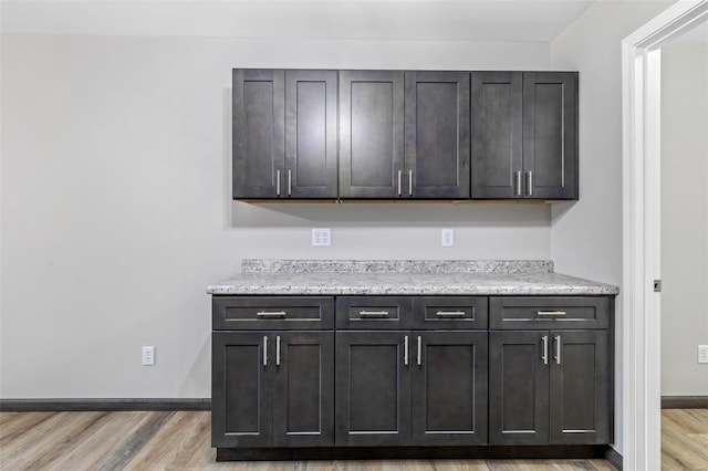
<svg viewBox="0 0 708 471"><path fill-rule="evenodd" d="M662 469L708 471L708 409L662 410Z"/></svg>

